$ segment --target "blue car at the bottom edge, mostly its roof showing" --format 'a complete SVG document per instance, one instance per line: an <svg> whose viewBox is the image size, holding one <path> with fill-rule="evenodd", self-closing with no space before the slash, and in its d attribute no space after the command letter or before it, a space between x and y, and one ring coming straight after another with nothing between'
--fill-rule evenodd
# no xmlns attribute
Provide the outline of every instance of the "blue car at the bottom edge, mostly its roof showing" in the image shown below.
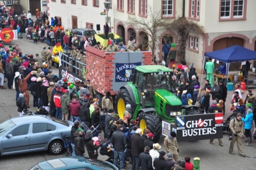
<svg viewBox="0 0 256 170"><path fill-rule="evenodd" d="M99 170L118 170L113 164L102 160L89 160L84 157L68 157L45 160L30 170L46 170L46 169L99 169Z"/></svg>

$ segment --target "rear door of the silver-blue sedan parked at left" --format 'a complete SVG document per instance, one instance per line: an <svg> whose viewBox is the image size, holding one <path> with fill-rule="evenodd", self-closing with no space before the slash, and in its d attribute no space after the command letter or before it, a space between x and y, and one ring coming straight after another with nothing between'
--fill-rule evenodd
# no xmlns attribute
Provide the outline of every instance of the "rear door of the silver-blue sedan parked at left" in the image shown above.
<svg viewBox="0 0 256 170"><path fill-rule="evenodd" d="M30 150L47 150L48 143L56 135L57 127L51 123L32 123Z"/></svg>

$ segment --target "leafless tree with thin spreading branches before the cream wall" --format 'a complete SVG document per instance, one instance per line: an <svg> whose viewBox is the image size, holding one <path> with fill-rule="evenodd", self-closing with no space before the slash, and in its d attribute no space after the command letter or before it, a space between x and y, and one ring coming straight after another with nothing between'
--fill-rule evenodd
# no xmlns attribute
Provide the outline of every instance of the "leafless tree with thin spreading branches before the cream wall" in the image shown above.
<svg viewBox="0 0 256 170"><path fill-rule="evenodd" d="M132 24L132 26L135 26L136 29L144 28L147 31L147 35L150 37L148 46L151 49L152 57L154 57L156 45L159 43L159 32L164 29L164 27L161 27L161 25L163 25L162 22L166 22L161 17L161 11L156 12L150 7L148 8L147 18L129 16L128 22Z"/></svg>

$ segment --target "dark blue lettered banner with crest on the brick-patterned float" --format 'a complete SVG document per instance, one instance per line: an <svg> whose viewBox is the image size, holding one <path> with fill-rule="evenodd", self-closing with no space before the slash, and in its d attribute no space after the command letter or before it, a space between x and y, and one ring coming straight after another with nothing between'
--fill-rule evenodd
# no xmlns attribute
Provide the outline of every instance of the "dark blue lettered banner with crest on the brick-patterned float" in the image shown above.
<svg viewBox="0 0 256 170"><path fill-rule="evenodd" d="M116 78L115 82L127 82L129 81L130 75L134 73L135 67L140 66L141 62L138 63L116 63Z"/></svg>

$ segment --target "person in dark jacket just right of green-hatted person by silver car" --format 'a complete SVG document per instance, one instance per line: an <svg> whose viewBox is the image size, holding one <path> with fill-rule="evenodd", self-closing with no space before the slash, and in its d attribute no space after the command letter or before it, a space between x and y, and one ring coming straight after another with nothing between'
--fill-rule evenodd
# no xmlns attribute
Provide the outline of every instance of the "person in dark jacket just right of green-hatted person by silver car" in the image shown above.
<svg viewBox="0 0 256 170"><path fill-rule="evenodd" d="M98 158L98 149L99 146L97 146L96 144L93 144L93 134L92 134L92 130L87 130L86 131L86 137L84 138L85 141L85 147L86 150L88 151L88 155L89 158L91 160L97 159Z"/></svg>

